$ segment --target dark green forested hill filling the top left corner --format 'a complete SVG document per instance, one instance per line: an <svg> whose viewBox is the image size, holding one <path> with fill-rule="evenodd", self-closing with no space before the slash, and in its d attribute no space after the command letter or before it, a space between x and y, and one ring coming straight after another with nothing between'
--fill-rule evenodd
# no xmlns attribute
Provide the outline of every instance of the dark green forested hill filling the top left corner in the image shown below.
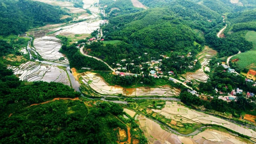
<svg viewBox="0 0 256 144"><path fill-rule="evenodd" d="M59 7L30 0L0 0L0 35L20 34L47 23L60 23Z"/></svg>

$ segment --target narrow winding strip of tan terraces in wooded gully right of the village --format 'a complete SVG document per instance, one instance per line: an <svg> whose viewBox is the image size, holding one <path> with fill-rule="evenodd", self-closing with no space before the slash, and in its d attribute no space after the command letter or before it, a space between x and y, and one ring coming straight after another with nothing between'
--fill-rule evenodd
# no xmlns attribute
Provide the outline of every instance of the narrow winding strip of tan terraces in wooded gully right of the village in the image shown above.
<svg viewBox="0 0 256 144"><path fill-rule="evenodd" d="M197 55L197 58L202 66L201 69L198 69L195 72L187 72L183 74L183 76L186 77L187 80L206 82L209 76L204 72L204 69L205 71L210 71L210 68L207 67L207 65L209 64L211 58L214 57L216 54L217 51L205 47L205 49Z"/></svg>

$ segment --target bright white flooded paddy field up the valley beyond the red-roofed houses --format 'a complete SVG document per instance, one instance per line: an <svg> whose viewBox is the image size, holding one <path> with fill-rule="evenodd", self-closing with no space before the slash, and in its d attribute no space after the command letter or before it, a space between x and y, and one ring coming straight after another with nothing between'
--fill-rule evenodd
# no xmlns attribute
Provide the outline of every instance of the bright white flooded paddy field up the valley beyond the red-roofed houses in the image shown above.
<svg viewBox="0 0 256 144"><path fill-rule="evenodd" d="M56 29L55 35L61 35L62 33L72 33L72 34L91 34L94 30L100 28L104 20L95 20L93 22L82 21L73 25L60 27Z"/></svg>

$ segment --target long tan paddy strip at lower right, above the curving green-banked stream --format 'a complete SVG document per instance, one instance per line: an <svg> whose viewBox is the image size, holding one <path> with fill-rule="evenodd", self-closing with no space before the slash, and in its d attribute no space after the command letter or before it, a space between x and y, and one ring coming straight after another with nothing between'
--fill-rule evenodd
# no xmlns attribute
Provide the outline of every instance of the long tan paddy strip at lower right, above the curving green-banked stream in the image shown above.
<svg viewBox="0 0 256 144"><path fill-rule="evenodd" d="M189 124L216 124L237 131L240 134L256 138L256 132L253 131L252 129L240 127L234 123L223 120L221 118L197 112L195 110L177 104L176 102L166 101L165 107L163 109L151 110L159 115L163 115L167 119L172 119L176 122Z"/></svg>

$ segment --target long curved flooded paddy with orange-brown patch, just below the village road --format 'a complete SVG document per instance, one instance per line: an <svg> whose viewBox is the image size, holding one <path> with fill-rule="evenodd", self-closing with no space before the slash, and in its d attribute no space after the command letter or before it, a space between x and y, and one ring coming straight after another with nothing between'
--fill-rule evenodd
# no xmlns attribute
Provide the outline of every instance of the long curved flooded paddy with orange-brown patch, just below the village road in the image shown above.
<svg viewBox="0 0 256 144"><path fill-rule="evenodd" d="M179 89L170 86L156 88L111 86L99 74L93 72L85 72L81 76L94 91L100 94L122 94L125 96L178 96L180 94Z"/></svg>

